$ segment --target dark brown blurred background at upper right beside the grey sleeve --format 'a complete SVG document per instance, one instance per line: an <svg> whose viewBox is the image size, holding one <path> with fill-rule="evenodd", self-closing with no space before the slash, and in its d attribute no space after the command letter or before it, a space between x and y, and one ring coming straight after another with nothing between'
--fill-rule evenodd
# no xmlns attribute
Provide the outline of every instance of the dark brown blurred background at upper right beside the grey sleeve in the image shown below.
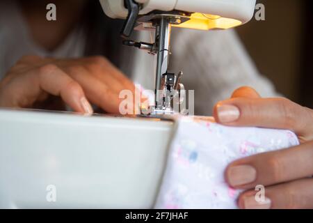
<svg viewBox="0 0 313 223"><path fill-rule="evenodd" d="M237 28L263 75L287 98L313 108L313 1L257 0L266 20Z"/></svg>

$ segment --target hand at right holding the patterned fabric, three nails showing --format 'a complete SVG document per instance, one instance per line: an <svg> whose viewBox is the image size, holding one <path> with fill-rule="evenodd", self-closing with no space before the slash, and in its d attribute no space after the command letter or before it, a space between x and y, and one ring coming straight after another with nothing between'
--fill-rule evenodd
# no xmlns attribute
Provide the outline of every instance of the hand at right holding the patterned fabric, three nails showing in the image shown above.
<svg viewBox="0 0 313 223"><path fill-rule="evenodd" d="M239 208L313 208L313 110L284 98L260 98L248 87L214 108L218 123L294 131L300 146L261 153L232 162L225 170L230 186L246 190ZM265 201L255 199L264 185Z"/></svg>

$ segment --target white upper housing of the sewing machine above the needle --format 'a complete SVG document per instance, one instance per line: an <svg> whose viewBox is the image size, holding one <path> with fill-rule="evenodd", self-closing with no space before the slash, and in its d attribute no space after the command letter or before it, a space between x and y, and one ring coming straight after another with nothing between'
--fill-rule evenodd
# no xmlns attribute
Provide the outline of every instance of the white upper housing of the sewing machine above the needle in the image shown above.
<svg viewBox="0 0 313 223"><path fill-rule="evenodd" d="M124 0L100 0L100 2L104 13L109 17L114 19L127 17L128 10L125 8ZM141 4L139 15L147 15L154 10L163 12L175 10L218 16L218 18L214 17L211 22L216 22L219 17L238 20L239 23L234 25L238 26L251 20L256 0L134 0L134 2ZM226 29L228 28L231 27Z"/></svg>

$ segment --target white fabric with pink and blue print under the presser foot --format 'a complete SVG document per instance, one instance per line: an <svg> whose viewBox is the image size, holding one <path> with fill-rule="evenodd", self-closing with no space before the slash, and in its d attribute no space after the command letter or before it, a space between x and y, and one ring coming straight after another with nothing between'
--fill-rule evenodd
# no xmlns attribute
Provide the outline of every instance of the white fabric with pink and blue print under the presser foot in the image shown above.
<svg viewBox="0 0 313 223"><path fill-rule="evenodd" d="M225 183L230 162L299 144L289 130L235 128L178 118L155 208L236 208L240 191Z"/></svg>

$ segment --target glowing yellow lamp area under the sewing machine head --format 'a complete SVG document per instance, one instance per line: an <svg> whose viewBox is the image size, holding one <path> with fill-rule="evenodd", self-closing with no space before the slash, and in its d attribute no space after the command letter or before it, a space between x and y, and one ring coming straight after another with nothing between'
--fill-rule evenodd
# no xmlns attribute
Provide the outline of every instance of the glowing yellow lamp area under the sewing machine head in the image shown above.
<svg viewBox="0 0 313 223"><path fill-rule="evenodd" d="M218 15L207 15L203 13L191 14L190 20L181 24L173 24L174 27L188 29L230 29L241 25L242 22L230 18L220 17Z"/></svg>

